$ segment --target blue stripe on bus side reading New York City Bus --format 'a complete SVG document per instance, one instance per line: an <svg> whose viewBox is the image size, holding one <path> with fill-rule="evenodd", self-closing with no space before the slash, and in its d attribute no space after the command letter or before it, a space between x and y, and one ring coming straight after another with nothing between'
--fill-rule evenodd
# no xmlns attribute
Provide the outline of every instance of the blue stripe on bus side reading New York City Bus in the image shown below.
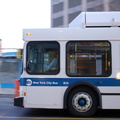
<svg viewBox="0 0 120 120"><path fill-rule="evenodd" d="M115 78L21 78L21 86L69 86L78 81L87 81L95 86L120 86Z"/></svg>

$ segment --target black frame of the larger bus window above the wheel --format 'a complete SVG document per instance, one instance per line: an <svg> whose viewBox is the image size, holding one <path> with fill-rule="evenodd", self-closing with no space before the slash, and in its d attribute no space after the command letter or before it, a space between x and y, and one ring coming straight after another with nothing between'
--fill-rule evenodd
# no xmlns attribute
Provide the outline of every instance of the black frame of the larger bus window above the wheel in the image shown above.
<svg viewBox="0 0 120 120"><path fill-rule="evenodd" d="M68 64L68 59L67 59L67 54L68 54L68 52L67 52L67 46L68 46L68 44L70 43L70 42L108 42L109 43L109 45L110 45L110 51L109 51L109 55L110 55L110 73L109 74L107 74L107 75L104 75L104 74L102 74L102 75L69 75L68 74L68 70L67 70L67 64ZM68 41L67 43L66 43L66 75L67 76L69 76L69 77L109 77L111 74L112 74L112 47L111 47L111 43L110 43L110 41L108 41L108 40L75 40L75 41L73 41L73 40L70 40L70 41ZM80 52L78 52L78 53L80 53Z"/></svg>

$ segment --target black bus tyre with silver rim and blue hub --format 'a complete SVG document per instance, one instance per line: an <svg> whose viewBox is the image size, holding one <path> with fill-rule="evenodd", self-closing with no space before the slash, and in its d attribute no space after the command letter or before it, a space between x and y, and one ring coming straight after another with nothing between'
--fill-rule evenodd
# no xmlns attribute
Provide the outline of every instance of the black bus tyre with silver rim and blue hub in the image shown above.
<svg viewBox="0 0 120 120"><path fill-rule="evenodd" d="M73 116L92 116L97 108L97 95L91 88L81 86L69 94L68 110Z"/></svg>

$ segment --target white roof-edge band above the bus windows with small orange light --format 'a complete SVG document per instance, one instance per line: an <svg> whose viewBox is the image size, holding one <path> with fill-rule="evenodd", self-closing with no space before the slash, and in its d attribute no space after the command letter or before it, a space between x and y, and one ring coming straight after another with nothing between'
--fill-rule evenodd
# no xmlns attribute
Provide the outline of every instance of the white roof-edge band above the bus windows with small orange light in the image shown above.
<svg viewBox="0 0 120 120"><path fill-rule="evenodd" d="M120 28L24 29L24 41L120 40Z"/></svg>

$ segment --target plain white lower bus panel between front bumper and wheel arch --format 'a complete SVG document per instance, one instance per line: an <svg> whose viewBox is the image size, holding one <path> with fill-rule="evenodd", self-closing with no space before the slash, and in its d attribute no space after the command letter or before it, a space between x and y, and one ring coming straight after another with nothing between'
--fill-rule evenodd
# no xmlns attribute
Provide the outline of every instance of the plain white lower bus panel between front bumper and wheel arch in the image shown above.
<svg viewBox="0 0 120 120"><path fill-rule="evenodd" d="M63 108L61 87L28 86L26 108Z"/></svg>

